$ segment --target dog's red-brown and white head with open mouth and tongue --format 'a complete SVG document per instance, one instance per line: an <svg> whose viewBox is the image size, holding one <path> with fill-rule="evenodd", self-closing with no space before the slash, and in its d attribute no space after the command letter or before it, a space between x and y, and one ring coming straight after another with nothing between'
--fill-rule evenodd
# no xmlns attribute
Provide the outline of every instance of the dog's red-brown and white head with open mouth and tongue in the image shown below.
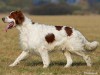
<svg viewBox="0 0 100 75"><path fill-rule="evenodd" d="M24 15L21 11L12 11L9 16L3 17L2 21L9 23L6 27L6 31L18 25L21 25L24 21Z"/></svg>

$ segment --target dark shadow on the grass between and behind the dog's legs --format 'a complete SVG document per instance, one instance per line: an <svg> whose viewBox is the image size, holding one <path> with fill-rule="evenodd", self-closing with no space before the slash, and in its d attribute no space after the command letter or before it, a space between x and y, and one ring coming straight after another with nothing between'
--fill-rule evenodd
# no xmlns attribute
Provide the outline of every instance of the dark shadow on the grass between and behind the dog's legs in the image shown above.
<svg viewBox="0 0 100 75"><path fill-rule="evenodd" d="M33 61L33 62L28 62L27 63L27 66L42 66L43 63L42 61ZM54 61L54 62L51 62L50 63L50 66L65 66L66 65L66 62L57 62L57 61ZM85 62L73 62L72 66L86 66L86 63Z"/></svg>

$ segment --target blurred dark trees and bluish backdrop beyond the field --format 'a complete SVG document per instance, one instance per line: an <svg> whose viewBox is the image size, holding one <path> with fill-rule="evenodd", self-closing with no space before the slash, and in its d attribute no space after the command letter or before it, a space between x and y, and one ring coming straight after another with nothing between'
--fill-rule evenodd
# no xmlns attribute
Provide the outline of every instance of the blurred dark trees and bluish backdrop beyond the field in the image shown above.
<svg viewBox="0 0 100 75"><path fill-rule="evenodd" d="M12 10L32 15L100 14L100 0L0 0L0 13Z"/></svg>

